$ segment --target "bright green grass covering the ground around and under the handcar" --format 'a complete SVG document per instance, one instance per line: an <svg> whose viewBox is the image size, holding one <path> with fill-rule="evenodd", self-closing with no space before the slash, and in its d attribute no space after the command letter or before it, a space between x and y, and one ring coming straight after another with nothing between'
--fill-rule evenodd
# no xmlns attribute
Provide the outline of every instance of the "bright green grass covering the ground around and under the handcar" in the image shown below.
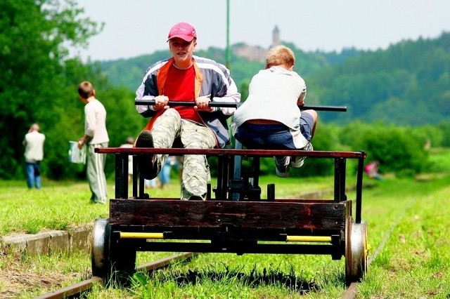
<svg viewBox="0 0 450 299"><path fill-rule="evenodd" d="M371 265L359 285L358 298L450 297L450 152L439 150L431 159L439 172L416 178L386 175L383 181L365 178L363 219L368 222ZM327 178L301 183L292 178L262 178L261 185L275 181L277 197L328 190L333 183ZM31 192L23 185L0 182L1 234L63 229L108 214L107 205L89 204L85 183L47 182L43 190ZM158 192L176 197L178 188L173 180L169 191L151 192L155 197L161 195ZM348 196L354 198L352 192ZM46 210L40 213L37 208ZM32 225L36 221L40 225ZM160 255L139 253L137 263ZM150 277L135 274L127 289L97 286L86 298L340 298L345 292L344 262L328 255L204 254ZM23 288L11 298L32 298L88 277L90 256L2 254L0 271L1 298L11 295L11 286Z"/></svg>

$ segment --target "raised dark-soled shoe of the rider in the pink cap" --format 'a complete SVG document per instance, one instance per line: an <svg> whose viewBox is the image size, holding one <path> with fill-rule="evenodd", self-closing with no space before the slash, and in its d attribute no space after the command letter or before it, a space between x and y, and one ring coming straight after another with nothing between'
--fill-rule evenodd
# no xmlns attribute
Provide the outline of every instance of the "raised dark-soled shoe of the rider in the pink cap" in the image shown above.
<svg viewBox="0 0 450 299"><path fill-rule="evenodd" d="M143 130L137 140L136 147L153 147L152 133L148 130ZM137 157L138 171L146 180L152 180L158 175L158 164L156 163L155 154L139 154Z"/></svg>

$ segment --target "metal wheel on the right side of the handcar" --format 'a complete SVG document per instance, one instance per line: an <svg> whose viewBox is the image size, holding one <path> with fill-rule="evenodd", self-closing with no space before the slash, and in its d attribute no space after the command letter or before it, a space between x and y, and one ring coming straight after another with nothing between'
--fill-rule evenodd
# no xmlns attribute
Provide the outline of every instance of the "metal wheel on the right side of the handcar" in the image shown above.
<svg viewBox="0 0 450 299"><path fill-rule="evenodd" d="M367 222L348 220L345 240L345 279L348 286L354 281L361 281L367 272Z"/></svg>

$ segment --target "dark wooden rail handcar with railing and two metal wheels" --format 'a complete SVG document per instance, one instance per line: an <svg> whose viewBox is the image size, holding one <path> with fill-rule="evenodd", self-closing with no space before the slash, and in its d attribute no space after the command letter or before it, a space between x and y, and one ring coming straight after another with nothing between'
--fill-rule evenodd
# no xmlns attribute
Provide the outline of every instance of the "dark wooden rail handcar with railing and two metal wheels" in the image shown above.
<svg viewBox="0 0 450 299"><path fill-rule="evenodd" d="M110 199L109 219L95 225L93 272L107 275L110 267L129 272L136 251L328 254L333 259L345 256L347 282L361 279L366 272L366 224L361 223L364 152L122 147L96 152L115 155L115 198ZM134 175L129 197L128 157L134 157L133 173L138 174L140 154L217 157L214 194L209 188L205 201L150 198L143 178ZM333 198L278 199L271 184L262 199L259 158L276 155L334 159ZM251 182L240 171L245 157L252 157L255 164ZM358 160L354 201L346 194L347 159Z"/></svg>

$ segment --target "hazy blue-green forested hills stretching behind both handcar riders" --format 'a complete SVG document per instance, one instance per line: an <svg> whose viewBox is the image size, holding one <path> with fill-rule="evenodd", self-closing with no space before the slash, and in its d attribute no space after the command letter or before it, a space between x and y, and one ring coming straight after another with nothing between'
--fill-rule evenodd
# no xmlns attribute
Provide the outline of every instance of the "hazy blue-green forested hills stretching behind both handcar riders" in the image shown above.
<svg viewBox="0 0 450 299"><path fill-rule="evenodd" d="M340 53L304 52L294 44L295 70L307 81L307 103L346 105L346 113L321 112L321 121L383 121L387 124L436 124L450 119L450 33L437 39L401 41L386 50ZM231 74L243 94L264 67L268 49L243 43L231 47ZM225 63L225 50L196 55ZM136 58L96 62L114 86L136 91L146 68L170 56L157 51Z"/></svg>

